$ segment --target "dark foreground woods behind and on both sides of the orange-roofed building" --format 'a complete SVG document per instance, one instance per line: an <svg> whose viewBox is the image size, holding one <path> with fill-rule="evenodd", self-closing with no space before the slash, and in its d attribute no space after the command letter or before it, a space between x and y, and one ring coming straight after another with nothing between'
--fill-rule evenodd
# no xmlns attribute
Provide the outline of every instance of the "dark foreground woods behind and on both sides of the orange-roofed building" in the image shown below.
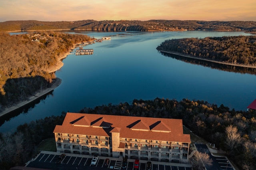
<svg viewBox="0 0 256 170"><path fill-rule="evenodd" d="M256 169L256 112L230 110L206 101L182 99L138 100L132 103L85 107L80 113L182 119L183 125L224 150L243 170ZM65 113L20 125L13 134L0 134L0 166L22 165L36 156L36 145L54 137Z"/></svg>

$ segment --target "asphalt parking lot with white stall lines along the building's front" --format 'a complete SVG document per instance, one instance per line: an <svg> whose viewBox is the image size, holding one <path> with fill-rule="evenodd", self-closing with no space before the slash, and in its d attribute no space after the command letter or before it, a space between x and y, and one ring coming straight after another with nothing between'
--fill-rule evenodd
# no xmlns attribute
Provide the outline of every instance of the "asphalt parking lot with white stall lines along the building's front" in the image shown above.
<svg viewBox="0 0 256 170"><path fill-rule="evenodd" d="M91 165L92 157L89 155L78 155L78 154L66 154L61 164L57 164L60 153L47 153L41 152L36 159L32 160L27 164L27 167L32 168L44 168L50 170L134 170L134 160L128 159L126 168L122 168L122 160L119 158L111 158L108 166L104 166L104 159L106 157L99 157L95 166ZM140 160L139 170L146 169L145 160ZM152 161L152 170L192 170L190 165L176 164L169 162L155 162Z"/></svg>

